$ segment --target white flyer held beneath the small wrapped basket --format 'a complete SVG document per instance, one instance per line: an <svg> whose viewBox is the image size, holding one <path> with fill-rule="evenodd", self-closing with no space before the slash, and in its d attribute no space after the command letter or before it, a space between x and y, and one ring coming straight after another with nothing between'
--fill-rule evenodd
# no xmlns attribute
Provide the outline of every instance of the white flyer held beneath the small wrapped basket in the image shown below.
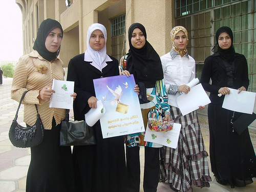
<svg viewBox="0 0 256 192"><path fill-rule="evenodd" d="M173 130L167 132L156 132L150 130L148 125L146 127L146 133L144 141L158 143L170 148L177 148L179 136L180 136L181 124L174 123Z"/></svg>

